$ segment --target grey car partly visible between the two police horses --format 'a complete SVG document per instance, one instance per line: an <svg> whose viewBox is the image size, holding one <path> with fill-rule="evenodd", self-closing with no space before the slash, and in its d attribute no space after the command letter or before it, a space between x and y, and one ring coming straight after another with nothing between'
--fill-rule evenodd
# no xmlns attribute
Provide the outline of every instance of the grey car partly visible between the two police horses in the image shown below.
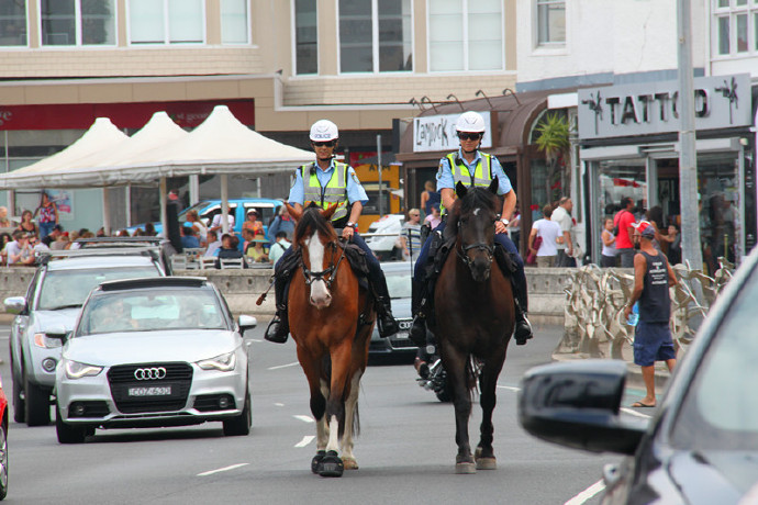
<svg viewBox="0 0 758 505"><path fill-rule="evenodd" d="M409 334L413 324L411 310L411 279L413 278L413 263L410 261L397 261L381 263L381 269L387 277L387 289L390 292L392 314L398 321L400 330L389 338L379 337L379 328L374 326L369 355L398 355L414 357L417 347L411 341Z"/></svg>

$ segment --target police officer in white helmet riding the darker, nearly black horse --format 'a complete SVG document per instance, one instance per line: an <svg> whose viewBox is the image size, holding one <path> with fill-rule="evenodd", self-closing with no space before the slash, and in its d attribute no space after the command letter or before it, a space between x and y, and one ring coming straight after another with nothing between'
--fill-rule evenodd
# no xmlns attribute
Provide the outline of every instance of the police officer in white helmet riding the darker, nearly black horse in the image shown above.
<svg viewBox="0 0 758 505"><path fill-rule="evenodd" d="M437 171L437 190L442 197L443 221L435 228L430 239L424 243L414 270L414 296L413 310L416 317L411 328L411 338L420 347L426 345L426 316L432 312L434 293L426 289L426 272L428 270L430 248L432 244L439 240L445 229L447 209L455 203L455 184L461 182L467 187L488 187L492 179L498 178L498 194L503 197L503 209L501 220L494 226L494 242L500 244L510 254L511 260L515 266L515 271L511 276L514 288L514 300L516 308L515 339L517 345L526 344L533 337L532 325L526 318L526 276L524 276L524 261L519 256L515 245L508 236L505 226L513 215L516 206L516 193L511 187L511 180L503 171L500 161L494 156L481 153L479 145L484 135L484 119L477 112L465 112L456 122L456 131L460 141L460 149L448 154L439 160ZM438 245L438 242L437 242ZM432 258L433 259L433 258ZM452 294L454 295L454 294Z"/></svg>

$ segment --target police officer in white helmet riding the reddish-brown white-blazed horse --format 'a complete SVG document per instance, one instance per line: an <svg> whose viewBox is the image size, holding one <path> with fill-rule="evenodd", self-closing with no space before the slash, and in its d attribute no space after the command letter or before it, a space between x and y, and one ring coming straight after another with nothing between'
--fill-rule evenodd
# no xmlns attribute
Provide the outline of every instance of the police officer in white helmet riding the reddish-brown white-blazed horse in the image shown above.
<svg viewBox="0 0 758 505"><path fill-rule="evenodd" d="M398 333L398 323L392 316L390 296L387 291L387 280L379 266L379 261L364 239L356 232L358 217L368 202L364 187L355 173L353 167L334 160L334 150L337 146L339 132L337 125L327 120L320 120L311 126L311 145L315 152L315 161L303 165L294 172L294 183L290 189L289 203L298 210L302 210L305 202L314 202L317 206L326 209L338 204L332 216L332 225L337 234L346 240L360 247L366 252L368 266L368 281L376 296L377 323L379 334L389 337ZM342 232L339 232L342 228ZM281 265L287 263L287 258L293 254L290 247L282 255L275 267L275 283L277 314L266 329L266 339L277 344L287 341L289 322L287 319L287 285L289 277L280 271Z"/></svg>

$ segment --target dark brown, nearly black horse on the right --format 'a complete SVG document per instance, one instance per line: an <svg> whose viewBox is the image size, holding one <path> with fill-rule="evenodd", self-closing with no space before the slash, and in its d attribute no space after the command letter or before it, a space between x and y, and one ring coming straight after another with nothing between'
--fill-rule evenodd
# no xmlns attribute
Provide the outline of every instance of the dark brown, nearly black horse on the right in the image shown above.
<svg viewBox="0 0 758 505"><path fill-rule="evenodd" d="M456 473L494 470L492 449L492 411L495 405L498 375L505 361L505 349L514 327L515 308L511 280L503 274L494 257L494 223L501 207L497 197L498 180L489 188L466 189L456 186L458 199L445 229L456 234L455 254L450 254L437 280L435 327L433 328L453 392L456 418ZM476 384L472 363L481 366L481 438L471 456L468 419L471 415L471 389Z"/></svg>

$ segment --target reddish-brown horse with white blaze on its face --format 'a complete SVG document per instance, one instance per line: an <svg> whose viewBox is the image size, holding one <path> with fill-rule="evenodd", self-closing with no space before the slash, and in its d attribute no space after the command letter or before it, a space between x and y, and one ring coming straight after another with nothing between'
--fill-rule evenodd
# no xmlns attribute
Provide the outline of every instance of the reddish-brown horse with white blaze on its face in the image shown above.
<svg viewBox="0 0 758 505"><path fill-rule="evenodd" d="M337 206L308 207L302 213L290 205L287 209L297 222L292 247L302 254L288 304L290 333L316 419L316 456L311 470L322 476L341 476L343 469L358 468L353 436L359 428L358 391L376 314L332 227Z"/></svg>

